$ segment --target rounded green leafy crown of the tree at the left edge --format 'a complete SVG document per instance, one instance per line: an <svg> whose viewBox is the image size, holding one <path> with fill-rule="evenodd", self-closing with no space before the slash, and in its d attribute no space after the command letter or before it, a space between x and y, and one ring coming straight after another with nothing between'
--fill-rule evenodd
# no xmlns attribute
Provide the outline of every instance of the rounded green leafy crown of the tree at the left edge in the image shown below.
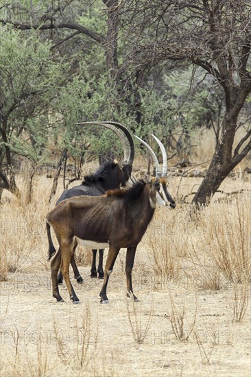
<svg viewBox="0 0 251 377"><path fill-rule="evenodd" d="M1 102L3 113L29 104L34 95L49 99L61 66L51 64L49 42L40 42L36 32L22 38L21 32L1 28ZM50 62L50 64L49 64Z"/></svg>

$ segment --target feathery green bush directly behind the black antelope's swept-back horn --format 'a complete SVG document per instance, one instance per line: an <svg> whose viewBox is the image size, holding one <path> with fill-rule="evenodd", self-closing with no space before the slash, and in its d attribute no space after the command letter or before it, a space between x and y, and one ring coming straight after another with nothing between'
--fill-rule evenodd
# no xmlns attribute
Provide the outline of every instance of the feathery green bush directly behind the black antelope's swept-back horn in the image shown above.
<svg viewBox="0 0 251 377"><path fill-rule="evenodd" d="M114 105L115 106L115 105ZM111 141L117 141L110 131L91 125L75 125L79 121L104 121L114 119L112 98L106 75L91 77L86 64L80 64L77 75L61 88L56 105L58 125L58 147L66 147L70 156L82 156L90 149L93 156L106 154ZM62 137L63 135L63 137Z"/></svg>

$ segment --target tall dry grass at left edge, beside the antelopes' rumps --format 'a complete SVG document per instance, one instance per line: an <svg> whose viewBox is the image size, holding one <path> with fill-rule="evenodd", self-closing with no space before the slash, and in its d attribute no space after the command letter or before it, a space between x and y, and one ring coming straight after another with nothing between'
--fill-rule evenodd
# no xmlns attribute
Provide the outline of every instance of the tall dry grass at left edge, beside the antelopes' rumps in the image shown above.
<svg viewBox="0 0 251 377"><path fill-rule="evenodd" d="M24 271L38 262L49 266L45 233L49 206L45 193L41 193L41 183L36 182L36 195L29 204L12 197L1 206L1 269L5 273ZM34 254L34 250L38 250L38 254Z"/></svg>

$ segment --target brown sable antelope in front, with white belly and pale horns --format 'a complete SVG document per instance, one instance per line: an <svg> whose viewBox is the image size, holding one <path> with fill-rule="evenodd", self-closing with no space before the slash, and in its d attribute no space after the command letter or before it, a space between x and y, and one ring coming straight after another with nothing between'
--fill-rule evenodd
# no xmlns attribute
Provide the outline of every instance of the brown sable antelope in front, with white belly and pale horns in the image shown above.
<svg viewBox="0 0 251 377"><path fill-rule="evenodd" d="M77 244L93 247L109 247L106 259L104 282L99 293L101 303L108 302L106 287L121 247L126 247L125 273L128 297L137 301L132 290L132 267L136 247L141 241L147 226L154 215L157 204L175 208L175 202L167 190L167 155L165 148L154 136L163 152L163 172L154 151L150 150L156 167L156 177L145 182L134 182L130 189L108 191L99 197L73 197L66 199L47 215L47 234L49 239L49 260L56 253L51 240L50 227L53 228L59 243L56 256L51 260L51 280L53 297L62 302L58 289L58 269L60 268L69 290L73 304L80 301L75 294L69 278L69 264ZM141 139L139 139L141 140Z"/></svg>

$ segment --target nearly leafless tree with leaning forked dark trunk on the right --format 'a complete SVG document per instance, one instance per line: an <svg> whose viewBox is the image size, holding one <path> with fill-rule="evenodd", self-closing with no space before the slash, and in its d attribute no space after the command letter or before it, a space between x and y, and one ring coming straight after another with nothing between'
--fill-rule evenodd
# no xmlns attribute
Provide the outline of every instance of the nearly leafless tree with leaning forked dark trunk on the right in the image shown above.
<svg viewBox="0 0 251 377"><path fill-rule="evenodd" d="M132 0L130 5L128 17L139 41L130 55L137 66L163 60L189 62L202 67L224 90L222 132L206 177L193 198L197 206L206 204L251 149L251 129L235 140L238 117L251 92L250 1Z"/></svg>

